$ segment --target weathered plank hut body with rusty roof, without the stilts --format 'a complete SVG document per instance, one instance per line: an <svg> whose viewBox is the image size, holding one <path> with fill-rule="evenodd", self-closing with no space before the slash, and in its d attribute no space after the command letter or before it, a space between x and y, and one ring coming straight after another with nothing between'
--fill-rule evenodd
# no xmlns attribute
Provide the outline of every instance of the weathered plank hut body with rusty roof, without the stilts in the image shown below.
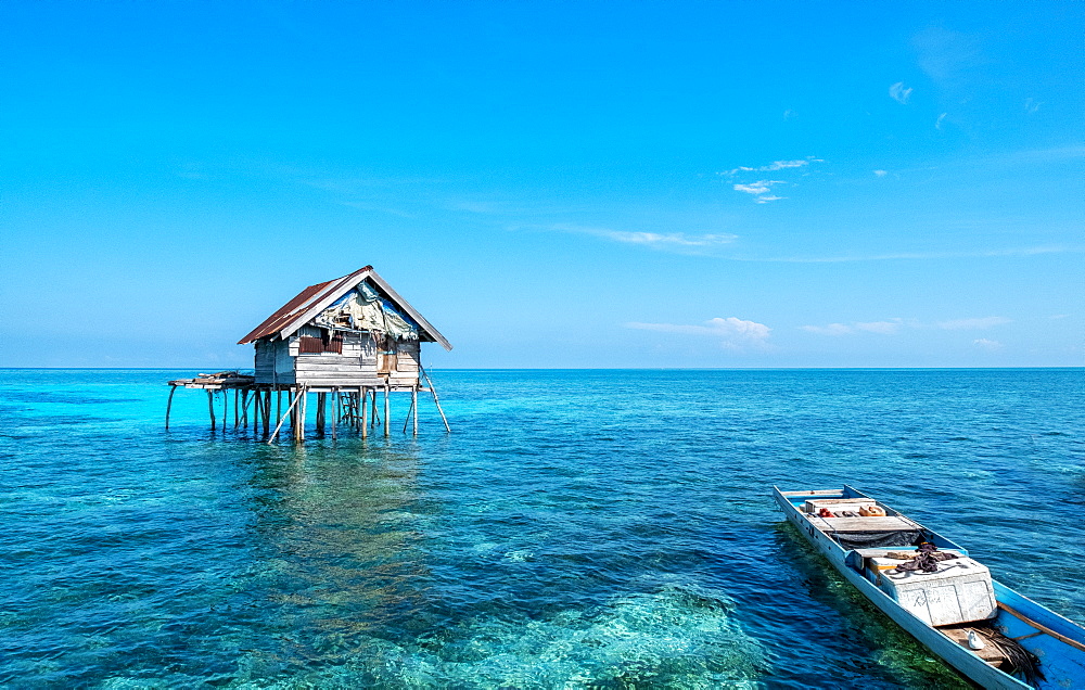
<svg viewBox="0 0 1085 690"><path fill-rule="evenodd" d="M372 266L309 285L241 338L257 386L417 391L421 343L451 344Z"/></svg>

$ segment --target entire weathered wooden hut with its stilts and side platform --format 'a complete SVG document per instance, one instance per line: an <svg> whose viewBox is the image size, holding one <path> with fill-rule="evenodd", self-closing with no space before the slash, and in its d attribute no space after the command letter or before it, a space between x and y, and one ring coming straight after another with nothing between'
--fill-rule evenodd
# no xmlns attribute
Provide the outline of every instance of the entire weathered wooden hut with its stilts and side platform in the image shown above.
<svg viewBox="0 0 1085 690"><path fill-rule="evenodd" d="M442 420L445 419L433 383L422 368L421 343L439 343L445 349L452 346L371 266L309 285L239 342L240 345L248 343L256 346L256 371L252 383L239 385L237 380L224 381L221 387L215 388L214 381L208 379L170 382L175 388L208 391L213 426L215 406L212 398L217 389L224 394L234 391L235 425L247 423L252 406L254 424L258 427L263 422L264 432L272 438L289 418L294 437L304 439L308 394L316 395L316 424L321 433L330 403L333 435L339 422L360 430L365 436L367 427L379 419L383 419L387 435L392 393L411 395L405 431L413 414L414 433L418 433L419 393L430 393ZM270 432L272 393L276 394L275 417L279 420L275 432ZM283 393L286 394L285 412ZM378 393L384 396L383 414L378 411ZM226 405L228 401L224 400ZM445 426L448 426L447 421Z"/></svg>

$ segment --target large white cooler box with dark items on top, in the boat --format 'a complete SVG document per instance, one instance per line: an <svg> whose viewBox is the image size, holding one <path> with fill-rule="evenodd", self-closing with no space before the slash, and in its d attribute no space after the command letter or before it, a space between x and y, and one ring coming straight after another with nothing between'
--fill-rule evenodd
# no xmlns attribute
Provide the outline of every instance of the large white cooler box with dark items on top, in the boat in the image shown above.
<svg viewBox="0 0 1085 690"><path fill-rule="evenodd" d="M985 621L998 613L991 571L967 557L941 561L936 573L881 571L879 575L882 591L930 625Z"/></svg>

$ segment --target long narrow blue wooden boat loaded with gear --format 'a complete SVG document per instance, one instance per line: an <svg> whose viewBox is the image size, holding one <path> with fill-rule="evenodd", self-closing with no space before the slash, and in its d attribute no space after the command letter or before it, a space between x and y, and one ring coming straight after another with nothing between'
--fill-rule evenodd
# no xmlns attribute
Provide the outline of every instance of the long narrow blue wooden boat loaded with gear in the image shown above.
<svg viewBox="0 0 1085 690"><path fill-rule="evenodd" d="M1085 628L992 579L959 545L846 485L774 490L847 582L967 678L984 688L1085 688ZM935 571L905 560L921 553L935 554L926 561Z"/></svg>

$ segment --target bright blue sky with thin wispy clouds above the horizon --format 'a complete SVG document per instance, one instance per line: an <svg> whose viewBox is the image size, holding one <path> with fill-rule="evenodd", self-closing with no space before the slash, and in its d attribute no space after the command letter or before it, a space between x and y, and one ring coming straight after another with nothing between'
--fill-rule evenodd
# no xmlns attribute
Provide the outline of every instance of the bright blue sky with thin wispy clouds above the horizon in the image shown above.
<svg viewBox="0 0 1085 690"><path fill-rule="evenodd" d="M1085 4L0 4L0 366L1085 365Z"/></svg>

